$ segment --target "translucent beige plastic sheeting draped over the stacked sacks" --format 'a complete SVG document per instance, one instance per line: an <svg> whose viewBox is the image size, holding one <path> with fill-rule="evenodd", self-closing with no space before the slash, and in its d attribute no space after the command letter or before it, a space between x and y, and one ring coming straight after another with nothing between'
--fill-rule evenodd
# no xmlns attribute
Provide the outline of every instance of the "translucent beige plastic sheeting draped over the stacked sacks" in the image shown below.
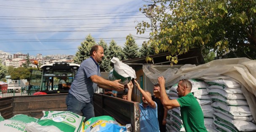
<svg viewBox="0 0 256 132"><path fill-rule="evenodd" d="M232 58L213 60L203 65L184 65L180 69L168 68L160 72L154 67L143 65L145 75L152 83L157 83L157 78L165 78L165 86L170 87L182 79L234 80L242 85L243 95L250 106L250 111L256 120L256 60L248 58Z"/></svg>

